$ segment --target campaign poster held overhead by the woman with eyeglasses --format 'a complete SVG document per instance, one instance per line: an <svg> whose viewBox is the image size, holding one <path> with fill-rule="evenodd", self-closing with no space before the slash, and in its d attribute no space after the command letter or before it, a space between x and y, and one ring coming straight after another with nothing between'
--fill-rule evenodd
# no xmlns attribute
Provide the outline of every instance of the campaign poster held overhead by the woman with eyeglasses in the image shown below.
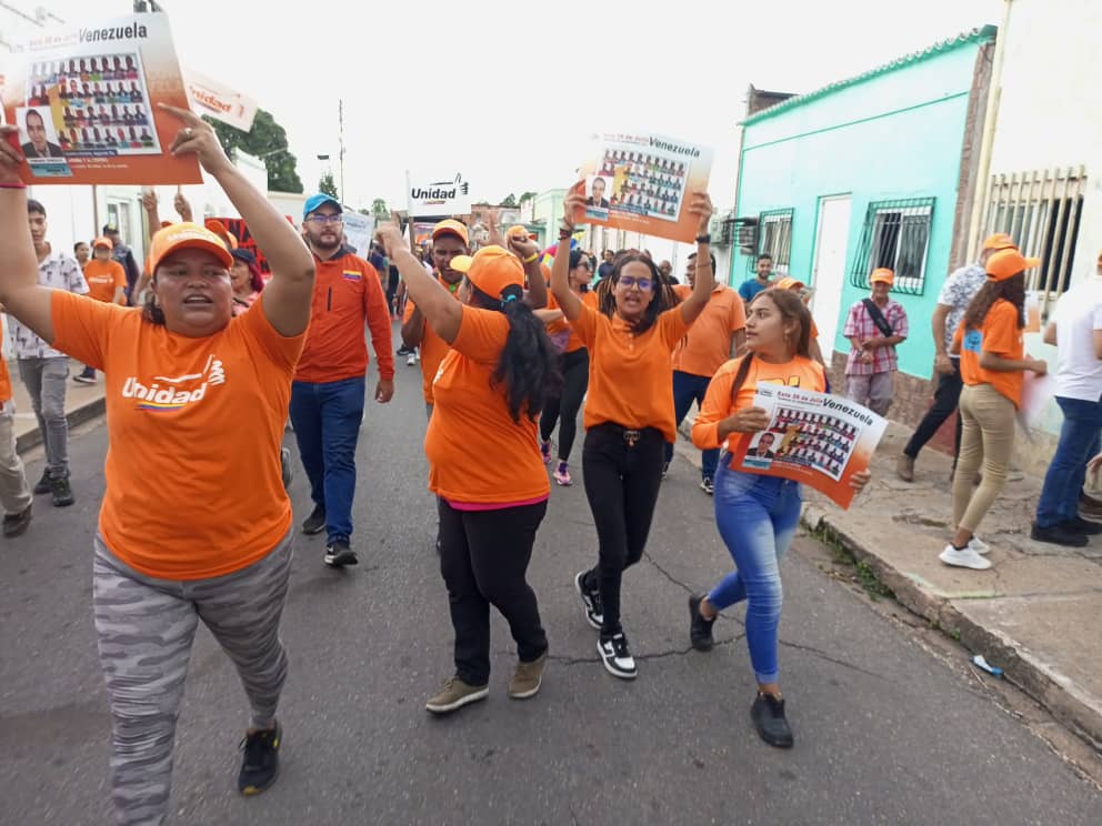
<svg viewBox="0 0 1102 826"><path fill-rule="evenodd" d="M585 209L578 223L692 242L698 219L687 209L692 192L708 191L712 150L647 133L604 133L581 165Z"/></svg>

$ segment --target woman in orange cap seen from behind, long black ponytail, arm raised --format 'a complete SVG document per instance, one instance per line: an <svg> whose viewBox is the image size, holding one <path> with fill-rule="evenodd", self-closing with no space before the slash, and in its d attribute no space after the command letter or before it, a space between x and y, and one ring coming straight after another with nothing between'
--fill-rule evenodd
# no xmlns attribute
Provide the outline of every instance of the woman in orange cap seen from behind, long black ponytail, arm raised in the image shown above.
<svg viewBox="0 0 1102 826"><path fill-rule="evenodd" d="M531 697L540 689L548 637L525 577L551 492L535 419L559 382L554 347L527 303L547 301L539 250L528 238L510 235L517 254L490 245L473 258L452 258L452 270L465 273L457 301L424 271L397 226L385 224L378 234L410 300L451 347L433 383L424 453L429 490L437 495L455 672L425 708L448 714L489 694L491 605L517 642L509 696Z"/></svg>

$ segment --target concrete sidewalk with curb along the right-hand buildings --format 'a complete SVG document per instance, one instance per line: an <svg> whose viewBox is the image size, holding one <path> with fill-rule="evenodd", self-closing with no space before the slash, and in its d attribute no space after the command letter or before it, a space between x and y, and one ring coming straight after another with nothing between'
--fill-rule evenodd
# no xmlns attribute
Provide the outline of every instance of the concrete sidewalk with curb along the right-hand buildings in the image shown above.
<svg viewBox="0 0 1102 826"><path fill-rule="evenodd" d="M682 433L690 427L687 419ZM895 460L910 435L909 427L890 424L873 459L873 481L849 511L807 488L805 526L840 542L902 605L1002 668L1102 751L1102 536L1083 548L1030 540L1042 480L1026 475L1008 483L981 525L993 566L942 564L938 554L951 534L952 460L924 450L915 481L900 481Z"/></svg>

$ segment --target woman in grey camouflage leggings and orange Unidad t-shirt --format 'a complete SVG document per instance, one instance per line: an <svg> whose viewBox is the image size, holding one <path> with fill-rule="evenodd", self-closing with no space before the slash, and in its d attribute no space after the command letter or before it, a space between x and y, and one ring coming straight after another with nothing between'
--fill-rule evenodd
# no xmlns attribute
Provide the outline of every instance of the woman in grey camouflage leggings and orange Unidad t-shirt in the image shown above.
<svg viewBox="0 0 1102 826"><path fill-rule="evenodd" d="M176 721L200 621L237 666L252 711L238 788L253 794L276 779L287 676L279 621L291 567L291 504L277 455L314 272L294 228L230 163L210 125L163 110L183 123L172 154L198 157L272 262L261 306L239 319L230 253L191 223L153 236L142 310L39 286L21 159L7 141L14 128L0 127L0 233L10 240L0 245L0 301L104 374L110 446L92 604L121 823L168 816ZM226 495L242 486L253 495Z"/></svg>

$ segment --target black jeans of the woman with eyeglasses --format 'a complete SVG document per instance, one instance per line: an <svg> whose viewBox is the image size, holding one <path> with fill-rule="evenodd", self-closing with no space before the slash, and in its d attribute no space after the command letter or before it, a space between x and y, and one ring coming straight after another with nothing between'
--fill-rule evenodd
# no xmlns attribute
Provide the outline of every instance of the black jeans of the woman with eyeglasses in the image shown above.
<svg viewBox="0 0 1102 826"><path fill-rule="evenodd" d="M599 424L585 434L582 475L599 543L597 567L585 574L585 584L592 587L595 577L601 588L602 635L621 631L620 580L643 557L664 456L665 441L653 427Z"/></svg>

